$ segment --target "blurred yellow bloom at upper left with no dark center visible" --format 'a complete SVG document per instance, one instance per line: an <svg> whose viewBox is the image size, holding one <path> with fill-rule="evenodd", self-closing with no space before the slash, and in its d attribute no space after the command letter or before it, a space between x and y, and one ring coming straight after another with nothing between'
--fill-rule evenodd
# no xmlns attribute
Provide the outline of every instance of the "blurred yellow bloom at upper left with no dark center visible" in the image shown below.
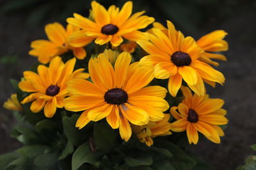
<svg viewBox="0 0 256 170"><path fill-rule="evenodd" d="M83 36L82 38L76 38L72 40L72 43L77 44L77 42L83 41L77 46L72 46L68 42L68 37L72 32L78 31L79 28L73 25L68 24L67 30L63 27L63 25L58 22L54 22L53 24L47 24L45 26L45 33L49 40L38 39L31 43L32 50L29 51L29 55L33 55L38 57L39 62L42 64L47 64L51 61L53 57L61 55L68 50L72 50L73 54L77 57L77 59L84 59L86 57L86 51L83 46L90 43L93 39L87 36Z"/></svg>

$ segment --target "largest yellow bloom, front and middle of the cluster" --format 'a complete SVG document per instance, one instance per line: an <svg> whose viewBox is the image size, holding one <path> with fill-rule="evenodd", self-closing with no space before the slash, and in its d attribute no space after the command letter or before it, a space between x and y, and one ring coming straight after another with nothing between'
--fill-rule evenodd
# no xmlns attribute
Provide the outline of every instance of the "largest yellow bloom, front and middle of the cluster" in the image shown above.
<svg viewBox="0 0 256 170"><path fill-rule="evenodd" d="M83 128L90 121L106 118L113 129L118 129L125 141L131 138L131 124L145 125L149 120L159 121L169 108L164 100L166 89L159 86L145 87L152 81L153 69L141 68L138 62L130 65L131 55L122 52L115 62L115 69L103 53L90 59L89 73L93 83L71 80L65 99L65 109L84 111L76 127Z"/></svg>

